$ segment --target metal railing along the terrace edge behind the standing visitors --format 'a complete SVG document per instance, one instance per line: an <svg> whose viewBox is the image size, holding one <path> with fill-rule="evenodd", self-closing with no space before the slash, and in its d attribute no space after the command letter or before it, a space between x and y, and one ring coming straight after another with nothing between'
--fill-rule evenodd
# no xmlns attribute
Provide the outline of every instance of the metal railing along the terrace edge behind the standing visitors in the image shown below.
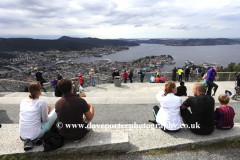
<svg viewBox="0 0 240 160"><path fill-rule="evenodd" d="M161 74L165 77L166 82L172 81L173 75L172 72L161 72ZM144 82L149 82L151 76L155 76L155 72L146 72L144 76ZM235 72L218 72L217 76L219 77L218 81L235 81ZM90 76L84 76L84 85L83 87L91 86ZM200 75L199 75L200 77ZM76 82L76 85L79 85L78 77L70 78L72 81ZM189 80L198 81L198 75L194 74L193 76L189 75ZM123 77L121 76L121 80L123 81ZM176 80L178 80L178 75L176 76ZM183 74L182 80L185 81L185 75ZM201 77L200 77L200 80ZM140 81L140 75L134 73L133 83ZM19 81L19 80L10 80L10 79L0 79L0 92L23 92L25 87L29 85L32 81ZM112 76L96 74L95 75L95 85L99 84L109 84L114 83ZM129 81L128 81L129 83ZM54 88L50 82L44 83L44 87L48 92L54 92Z"/></svg>

